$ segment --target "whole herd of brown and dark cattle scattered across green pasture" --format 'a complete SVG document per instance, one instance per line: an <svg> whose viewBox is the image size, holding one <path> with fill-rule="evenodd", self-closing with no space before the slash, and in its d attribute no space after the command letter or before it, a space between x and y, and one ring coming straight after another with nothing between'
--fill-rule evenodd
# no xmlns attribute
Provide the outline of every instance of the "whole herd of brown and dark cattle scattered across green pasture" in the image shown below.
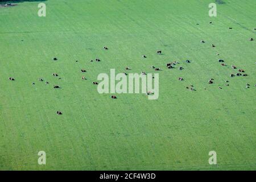
<svg viewBox="0 0 256 182"><path fill-rule="evenodd" d="M210 22L210 23L211 23L211 22ZM229 28L229 29L232 29L232 28ZM250 41L253 41L254 39L253 39L253 38L250 38L249 40L250 40ZM205 43L205 41L204 41L204 40L201 40L201 43ZM216 47L216 46L214 46L214 44L212 44L212 47ZM104 49L105 49L105 50L108 50L109 48L106 47L106 46L104 46ZM162 54L162 51L161 51L161 50L156 51L156 54L161 55L161 54ZM220 54L217 53L217 55L220 55ZM144 59L147 58L146 55L143 55L142 57L143 57ZM57 61L57 60L58 60L57 57L53 57L53 61ZM93 60L90 60L90 61L93 62ZM96 62L100 62L101 60L100 60L100 59L95 59L95 61L96 61ZM78 62L78 61L76 60L76 62ZM190 60L186 60L185 62L186 62L186 63L191 63ZM227 65L224 63L225 61L222 60L222 59L219 59L218 62L221 63L221 66L224 66L224 67L227 66ZM166 68L168 68L168 69L173 69L173 68L175 68L175 65L177 65L177 64L180 64L180 63L179 63L178 61L172 61L171 63L167 63L167 64L166 64ZM256 63L255 63L255 64L256 64ZM231 73L231 74L230 74L230 77L234 77L234 76L248 76L248 75L245 73L245 71L244 71L243 69L237 69L236 65L232 65L231 67L232 67L232 69L237 70L239 73ZM151 68L154 69L155 71L162 71L162 69L156 68L154 65L152 65ZM131 70L130 67L126 67L125 69L126 69L126 71ZM179 70L183 70L183 67L179 67ZM86 70L85 70L85 69L81 69L81 72L82 72L82 73L85 73ZM125 73L125 72L124 72L124 74L127 75L127 73ZM142 74L143 74L143 75L146 75L145 72L142 72ZM59 75L58 75L57 73L52 73L52 76L54 76L54 77L59 77ZM153 78L154 78L154 77L153 77ZM61 79L61 78L59 77L59 79ZM15 78L9 77L9 80L10 80L10 81L15 81ZM87 80L87 79L85 78L85 76L82 76L82 77L81 77L81 80ZM179 81L184 81L184 78L179 77L178 80L179 80ZM42 82L42 81L44 81L44 80L43 80L43 78L39 78L38 81L41 81L41 82ZM225 82L228 83L229 81L226 80ZM214 79L213 79L213 78L210 78L210 80L208 81L208 84L213 84L213 83L214 83ZM49 82L46 81L46 84L49 84ZM93 84L93 85L98 85L98 82L93 81L92 84ZM35 82L32 82L32 85L35 85ZM229 84L226 84L226 86L229 86ZM255 85L255 86L256 86L256 85ZM54 89L60 89L61 87L60 87L59 85L53 85L53 88L54 88ZM191 90L191 91L196 91L196 89L194 88L193 85L186 86L186 88L189 89L189 90ZM218 87L218 88L219 88L219 89L222 89L221 87ZM246 88L250 88L250 84L246 84ZM147 93L147 94L148 94L148 93ZM111 98L116 99L117 97L116 97L116 96L111 96ZM63 113L62 113L61 111L56 111L56 114L61 115L61 114L63 114Z"/></svg>

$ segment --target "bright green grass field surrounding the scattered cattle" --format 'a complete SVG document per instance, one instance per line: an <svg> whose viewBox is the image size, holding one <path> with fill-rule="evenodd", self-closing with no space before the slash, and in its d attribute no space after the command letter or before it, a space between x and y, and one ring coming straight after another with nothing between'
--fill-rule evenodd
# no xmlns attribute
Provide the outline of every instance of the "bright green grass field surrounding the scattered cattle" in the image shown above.
<svg viewBox="0 0 256 182"><path fill-rule="evenodd" d="M0 7L1 170L256 169L255 0L43 2L46 17L38 1ZM211 2L217 17L208 15ZM184 70L167 69L173 60ZM232 64L249 76L231 78ZM158 100L113 100L92 84L110 68L156 73L151 65L163 69ZM212 150L217 165L208 163Z"/></svg>

